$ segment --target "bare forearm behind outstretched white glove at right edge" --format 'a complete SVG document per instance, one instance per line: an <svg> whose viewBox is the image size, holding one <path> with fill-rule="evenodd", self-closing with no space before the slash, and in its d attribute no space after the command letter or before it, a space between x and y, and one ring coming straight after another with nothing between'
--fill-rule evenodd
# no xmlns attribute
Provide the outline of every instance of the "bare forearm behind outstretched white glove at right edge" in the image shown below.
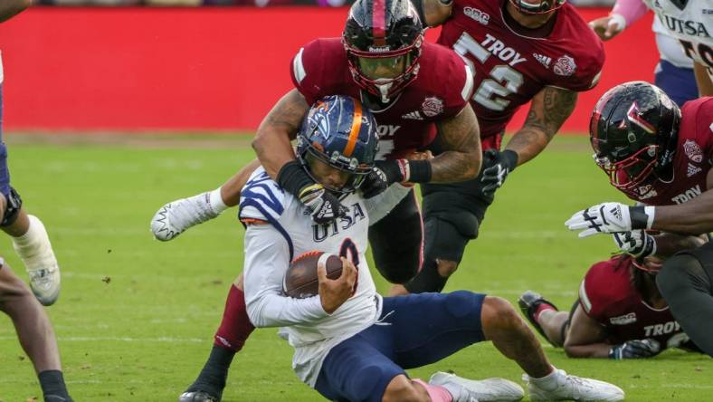
<svg viewBox="0 0 713 402"><path fill-rule="evenodd" d="M713 169L708 171L707 184L708 190L687 203L655 206L651 229L689 235L713 232Z"/></svg>

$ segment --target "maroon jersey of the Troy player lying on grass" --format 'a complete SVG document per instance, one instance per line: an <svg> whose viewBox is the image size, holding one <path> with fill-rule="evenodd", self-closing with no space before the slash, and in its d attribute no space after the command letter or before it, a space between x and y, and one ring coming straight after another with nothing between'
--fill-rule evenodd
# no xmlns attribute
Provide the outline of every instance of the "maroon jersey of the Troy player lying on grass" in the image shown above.
<svg viewBox="0 0 713 402"><path fill-rule="evenodd" d="M632 257L621 258L595 263L586 273L579 287L585 313L604 326L611 344L651 338L664 349L688 341L668 306L654 309L642 300L632 285Z"/></svg>

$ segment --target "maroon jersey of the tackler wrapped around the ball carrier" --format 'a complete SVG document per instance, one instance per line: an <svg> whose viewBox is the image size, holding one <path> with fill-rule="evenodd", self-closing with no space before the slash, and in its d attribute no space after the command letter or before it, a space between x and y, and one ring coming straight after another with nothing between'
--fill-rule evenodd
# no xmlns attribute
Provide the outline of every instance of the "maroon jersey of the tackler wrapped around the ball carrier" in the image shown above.
<svg viewBox="0 0 713 402"><path fill-rule="evenodd" d="M292 82L309 104L327 95L361 99L339 38L318 39L292 59ZM426 148L436 136L435 122L455 116L471 97L471 71L458 54L423 43L416 79L382 110L372 110L379 133L376 158L403 158Z"/></svg>

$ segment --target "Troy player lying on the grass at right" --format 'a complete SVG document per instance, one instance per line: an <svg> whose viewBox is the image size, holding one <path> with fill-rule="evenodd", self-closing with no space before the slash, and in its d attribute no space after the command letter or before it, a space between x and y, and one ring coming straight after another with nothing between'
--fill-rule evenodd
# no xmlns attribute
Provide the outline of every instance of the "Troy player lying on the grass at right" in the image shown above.
<svg viewBox="0 0 713 402"><path fill-rule="evenodd" d="M632 233L634 237L642 234ZM638 239L627 239L627 235L615 234L616 243L637 243ZM654 239L663 244L667 237L673 237L669 242L677 242L669 247L678 249L705 243L697 236L661 234ZM554 304L531 291L520 296L520 310L552 345L564 346L571 358L641 359L663 349L690 349L688 336L671 316L669 305L656 287L661 256L661 252L646 257L618 254L594 263L569 312L557 311Z"/></svg>

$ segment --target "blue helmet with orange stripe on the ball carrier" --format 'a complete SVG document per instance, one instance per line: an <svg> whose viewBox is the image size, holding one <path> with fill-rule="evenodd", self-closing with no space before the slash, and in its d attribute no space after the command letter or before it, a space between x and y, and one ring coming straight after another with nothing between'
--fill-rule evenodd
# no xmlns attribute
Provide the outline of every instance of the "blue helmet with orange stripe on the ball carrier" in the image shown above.
<svg viewBox="0 0 713 402"><path fill-rule="evenodd" d="M297 158L315 182L314 160L348 175L341 187L325 188L337 193L351 193L361 186L374 167L378 135L376 120L359 101L333 95L315 102L297 135Z"/></svg>

